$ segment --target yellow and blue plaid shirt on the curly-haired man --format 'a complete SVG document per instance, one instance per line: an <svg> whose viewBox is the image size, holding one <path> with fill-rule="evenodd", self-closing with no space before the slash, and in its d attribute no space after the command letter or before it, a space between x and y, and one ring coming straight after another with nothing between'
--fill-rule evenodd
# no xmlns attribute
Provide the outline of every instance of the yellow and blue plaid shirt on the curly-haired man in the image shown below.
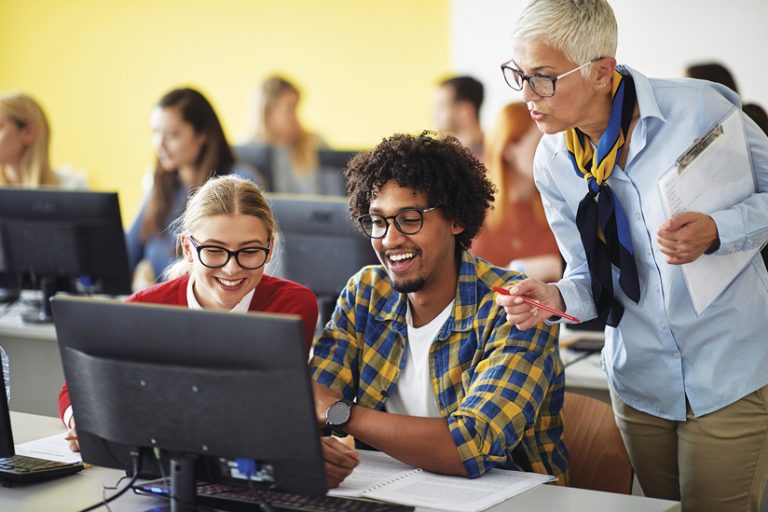
<svg viewBox="0 0 768 512"><path fill-rule="evenodd" d="M432 387L471 478L500 467L565 484L558 327L518 330L491 290L520 279L462 252L453 311L430 347ZM383 267L360 270L315 340L312 377L363 407L384 410L408 355L406 301Z"/></svg>

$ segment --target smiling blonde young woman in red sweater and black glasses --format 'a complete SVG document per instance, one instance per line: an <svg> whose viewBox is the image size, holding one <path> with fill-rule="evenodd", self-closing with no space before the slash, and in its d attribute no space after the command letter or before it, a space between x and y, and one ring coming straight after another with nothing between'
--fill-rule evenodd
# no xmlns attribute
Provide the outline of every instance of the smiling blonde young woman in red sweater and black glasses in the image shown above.
<svg viewBox="0 0 768 512"><path fill-rule="evenodd" d="M299 315L309 353L317 324L315 295L264 273L276 229L257 185L238 176L212 178L191 197L179 221L176 239L183 257L169 269L170 280L138 291L126 302ZM59 394L59 413L74 434L66 383ZM79 449L74 441L70 446Z"/></svg>

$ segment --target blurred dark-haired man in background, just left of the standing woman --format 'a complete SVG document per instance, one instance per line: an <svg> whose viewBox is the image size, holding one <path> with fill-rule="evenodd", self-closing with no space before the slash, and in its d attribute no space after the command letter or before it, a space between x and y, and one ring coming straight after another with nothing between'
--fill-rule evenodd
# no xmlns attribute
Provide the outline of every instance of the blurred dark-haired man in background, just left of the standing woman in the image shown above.
<svg viewBox="0 0 768 512"><path fill-rule="evenodd" d="M483 129L480 107L483 106L483 84L471 76L454 76L442 80L435 90L434 118L437 131L459 139L483 161Z"/></svg>

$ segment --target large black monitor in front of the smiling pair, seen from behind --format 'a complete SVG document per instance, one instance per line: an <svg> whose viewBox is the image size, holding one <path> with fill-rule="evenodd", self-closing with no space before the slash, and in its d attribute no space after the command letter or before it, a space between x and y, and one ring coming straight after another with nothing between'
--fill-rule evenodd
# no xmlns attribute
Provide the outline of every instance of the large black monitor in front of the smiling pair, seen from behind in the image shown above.
<svg viewBox="0 0 768 512"><path fill-rule="evenodd" d="M56 335L83 461L132 468L170 456L172 495L196 480L325 494L301 318L57 296ZM149 468L151 469L151 467Z"/></svg>

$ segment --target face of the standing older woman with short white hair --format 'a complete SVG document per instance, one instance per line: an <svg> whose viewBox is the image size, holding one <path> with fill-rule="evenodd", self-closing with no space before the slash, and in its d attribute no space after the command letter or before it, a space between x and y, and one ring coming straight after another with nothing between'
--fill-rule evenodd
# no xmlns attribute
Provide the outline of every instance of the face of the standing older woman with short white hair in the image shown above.
<svg viewBox="0 0 768 512"><path fill-rule="evenodd" d="M513 65L526 75L555 77L583 64L571 62L541 41L517 41L513 51ZM539 130L552 134L579 127L587 134L602 133L610 113L610 87L602 84L610 80L615 64L615 59L605 57L588 68L589 78L577 71L557 80L549 98L538 96L526 82L523 99Z"/></svg>

